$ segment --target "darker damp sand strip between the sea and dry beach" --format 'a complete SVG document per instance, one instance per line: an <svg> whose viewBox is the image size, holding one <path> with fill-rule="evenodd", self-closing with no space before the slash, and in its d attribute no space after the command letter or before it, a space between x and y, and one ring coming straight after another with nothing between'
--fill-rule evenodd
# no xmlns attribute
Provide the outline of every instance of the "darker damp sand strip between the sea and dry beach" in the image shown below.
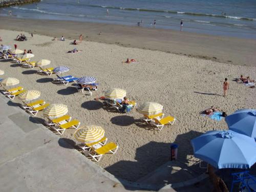
<svg viewBox="0 0 256 192"><path fill-rule="evenodd" d="M79 34L83 34L85 41L163 51L234 65L256 66L255 39L114 24L4 16L0 18L0 29L33 32L57 38L64 35L67 39L78 39Z"/></svg>

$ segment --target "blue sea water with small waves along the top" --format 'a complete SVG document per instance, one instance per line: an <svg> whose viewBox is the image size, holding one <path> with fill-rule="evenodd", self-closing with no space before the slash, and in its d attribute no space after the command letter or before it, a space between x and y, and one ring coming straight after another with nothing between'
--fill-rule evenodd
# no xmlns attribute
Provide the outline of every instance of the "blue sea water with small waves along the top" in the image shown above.
<svg viewBox="0 0 256 192"><path fill-rule="evenodd" d="M183 31L256 39L256 0L41 0L37 4L2 8L0 15L7 16L9 10L18 18L179 31L183 20Z"/></svg>

